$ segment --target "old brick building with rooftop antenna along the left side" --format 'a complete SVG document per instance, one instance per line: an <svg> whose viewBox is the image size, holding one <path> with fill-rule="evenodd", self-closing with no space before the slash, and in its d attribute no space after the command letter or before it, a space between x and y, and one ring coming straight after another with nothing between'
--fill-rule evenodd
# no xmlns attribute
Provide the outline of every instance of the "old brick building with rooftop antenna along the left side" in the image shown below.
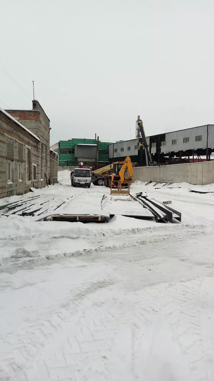
<svg viewBox="0 0 214 381"><path fill-rule="evenodd" d="M50 120L38 101L32 110L0 108L0 197L57 181L57 154L50 151Z"/></svg>

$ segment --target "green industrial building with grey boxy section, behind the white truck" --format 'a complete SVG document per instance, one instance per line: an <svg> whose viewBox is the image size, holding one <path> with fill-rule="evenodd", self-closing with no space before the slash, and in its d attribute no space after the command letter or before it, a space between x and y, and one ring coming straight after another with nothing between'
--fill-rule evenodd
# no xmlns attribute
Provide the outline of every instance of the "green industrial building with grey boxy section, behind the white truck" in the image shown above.
<svg viewBox="0 0 214 381"><path fill-rule="evenodd" d="M99 140L99 165L108 165L108 144ZM76 166L80 161L85 165L97 163L97 139L60 140L50 148L59 155L59 166Z"/></svg>

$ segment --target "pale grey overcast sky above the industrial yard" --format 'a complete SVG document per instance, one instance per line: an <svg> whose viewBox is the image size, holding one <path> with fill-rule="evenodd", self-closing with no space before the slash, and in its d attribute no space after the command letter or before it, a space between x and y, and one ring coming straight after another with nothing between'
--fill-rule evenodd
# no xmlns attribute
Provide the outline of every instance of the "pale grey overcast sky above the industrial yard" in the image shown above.
<svg viewBox="0 0 214 381"><path fill-rule="evenodd" d="M0 106L51 121L51 143L214 124L213 0L2 0ZM5 70L1 64L0 68ZM7 107L2 103L4 102Z"/></svg>

